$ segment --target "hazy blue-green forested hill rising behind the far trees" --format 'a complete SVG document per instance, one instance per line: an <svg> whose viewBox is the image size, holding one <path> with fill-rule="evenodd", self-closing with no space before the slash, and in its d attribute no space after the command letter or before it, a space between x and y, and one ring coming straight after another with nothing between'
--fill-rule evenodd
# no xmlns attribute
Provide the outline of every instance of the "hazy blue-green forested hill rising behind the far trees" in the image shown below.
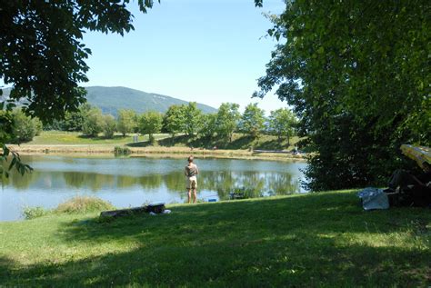
<svg viewBox="0 0 431 288"><path fill-rule="evenodd" d="M138 114L145 111L165 113L171 105L188 104L186 101L174 97L146 93L126 87L89 86L85 89L89 104L99 107L104 114L113 114L114 116L119 109L132 109ZM4 96L8 96L9 93L10 88L3 89ZM197 104L197 108L205 114L216 113L217 111L216 108L205 104Z"/></svg>

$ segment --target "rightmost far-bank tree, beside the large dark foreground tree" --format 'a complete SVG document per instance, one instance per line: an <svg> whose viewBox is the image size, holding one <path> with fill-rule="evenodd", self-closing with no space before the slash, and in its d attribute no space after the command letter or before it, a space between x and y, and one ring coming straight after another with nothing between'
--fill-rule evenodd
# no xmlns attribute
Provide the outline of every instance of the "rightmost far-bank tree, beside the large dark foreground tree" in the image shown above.
<svg viewBox="0 0 431 288"><path fill-rule="evenodd" d="M286 137L290 144L290 137L295 134L296 117L292 111L280 108L269 114L269 129L271 134L276 134L278 141Z"/></svg>

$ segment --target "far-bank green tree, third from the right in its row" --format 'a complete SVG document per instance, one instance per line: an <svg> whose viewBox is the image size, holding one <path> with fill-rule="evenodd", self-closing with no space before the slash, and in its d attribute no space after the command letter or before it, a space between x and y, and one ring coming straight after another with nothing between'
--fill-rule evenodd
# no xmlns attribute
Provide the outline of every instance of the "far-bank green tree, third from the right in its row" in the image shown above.
<svg viewBox="0 0 431 288"><path fill-rule="evenodd" d="M221 138L229 139L229 142L232 142L232 135L241 118L238 109L238 104L223 103L217 111L216 133Z"/></svg>

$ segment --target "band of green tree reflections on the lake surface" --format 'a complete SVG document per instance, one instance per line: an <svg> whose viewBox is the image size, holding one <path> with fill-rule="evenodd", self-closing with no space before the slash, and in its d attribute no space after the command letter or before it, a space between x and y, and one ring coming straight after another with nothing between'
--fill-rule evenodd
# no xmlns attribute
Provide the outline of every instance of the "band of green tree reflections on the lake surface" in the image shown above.
<svg viewBox="0 0 431 288"><path fill-rule="evenodd" d="M63 181L62 181L63 180ZM139 185L145 190L155 190L164 187L169 192L178 192L185 189L185 178L181 172L167 174L145 174L141 176L97 174L82 172L41 172L34 171L31 174L11 173L5 179L4 186L14 187L17 191L26 191L29 188L50 189L54 187L68 187L88 189L92 192L103 190L105 187L124 188ZM286 195L300 192L298 179L291 174L260 173L260 172L235 172L205 171L198 178L199 190L215 191L220 198L236 189L255 191L256 196Z"/></svg>

